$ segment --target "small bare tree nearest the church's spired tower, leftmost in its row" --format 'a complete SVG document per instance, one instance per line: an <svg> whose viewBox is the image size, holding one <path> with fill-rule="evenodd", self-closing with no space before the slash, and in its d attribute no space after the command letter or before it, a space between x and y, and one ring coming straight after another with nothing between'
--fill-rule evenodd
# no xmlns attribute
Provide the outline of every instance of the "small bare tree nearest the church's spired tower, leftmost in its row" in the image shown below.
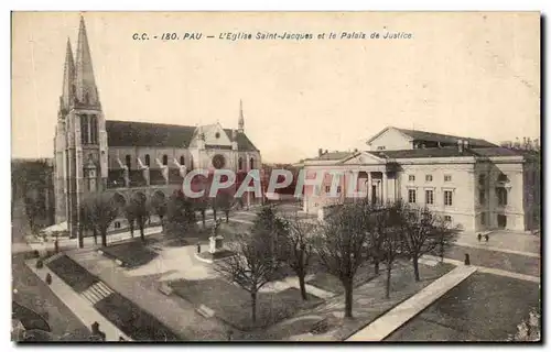
<svg viewBox="0 0 551 352"><path fill-rule="evenodd" d="M107 194L93 194L85 200L86 212L101 235L101 245L107 246L107 230L117 219L118 207Z"/></svg>

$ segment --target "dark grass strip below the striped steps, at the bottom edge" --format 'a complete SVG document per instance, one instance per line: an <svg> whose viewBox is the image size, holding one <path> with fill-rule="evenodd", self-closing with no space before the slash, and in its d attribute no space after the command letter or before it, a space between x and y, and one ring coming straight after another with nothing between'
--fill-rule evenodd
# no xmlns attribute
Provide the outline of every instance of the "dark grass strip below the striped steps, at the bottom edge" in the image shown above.
<svg viewBox="0 0 551 352"><path fill-rule="evenodd" d="M134 341L185 340L172 332L153 316L119 294L111 294L99 300L94 307Z"/></svg>

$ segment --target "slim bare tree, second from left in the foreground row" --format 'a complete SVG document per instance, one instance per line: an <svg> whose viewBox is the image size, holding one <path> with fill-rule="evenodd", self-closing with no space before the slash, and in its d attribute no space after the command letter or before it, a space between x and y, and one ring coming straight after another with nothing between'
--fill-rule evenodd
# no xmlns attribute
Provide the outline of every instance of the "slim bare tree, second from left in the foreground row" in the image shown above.
<svg viewBox="0 0 551 352"><path fill-rule="evenodd" d="M282 260L299 277L302 299L307 300L305 277L310 268L313 254L312 238L318 224L301 220L295 215L287 219L288 231L284 233L282 245Z"/></svg>

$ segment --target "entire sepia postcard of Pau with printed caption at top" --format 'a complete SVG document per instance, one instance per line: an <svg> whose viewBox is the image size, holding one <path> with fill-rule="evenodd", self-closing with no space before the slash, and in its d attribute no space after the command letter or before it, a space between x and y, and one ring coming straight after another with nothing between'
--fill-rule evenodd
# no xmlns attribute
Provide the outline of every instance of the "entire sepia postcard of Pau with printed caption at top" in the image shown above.
<svg viewBox="0 0 551 352"><path fill-rule="evenodd" d="M539 12L12 12L12 340L540 341Z"/></svg>

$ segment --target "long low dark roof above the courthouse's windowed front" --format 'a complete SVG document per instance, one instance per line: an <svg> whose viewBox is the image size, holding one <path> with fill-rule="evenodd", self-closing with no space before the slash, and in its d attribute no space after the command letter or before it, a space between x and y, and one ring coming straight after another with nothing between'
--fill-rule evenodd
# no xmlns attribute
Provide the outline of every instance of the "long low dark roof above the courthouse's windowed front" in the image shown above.
<svg viewBox="0 0 551 352"><path fill-rule="evenodd" d="M401 150L401 151L370 151L368 152L375 156L383 158L420 158L420 157L461 157L461 156L521 156L521 153L506 147L474 147L465 148L460 152L457 147L428 147L417 150Z"/></svg>

